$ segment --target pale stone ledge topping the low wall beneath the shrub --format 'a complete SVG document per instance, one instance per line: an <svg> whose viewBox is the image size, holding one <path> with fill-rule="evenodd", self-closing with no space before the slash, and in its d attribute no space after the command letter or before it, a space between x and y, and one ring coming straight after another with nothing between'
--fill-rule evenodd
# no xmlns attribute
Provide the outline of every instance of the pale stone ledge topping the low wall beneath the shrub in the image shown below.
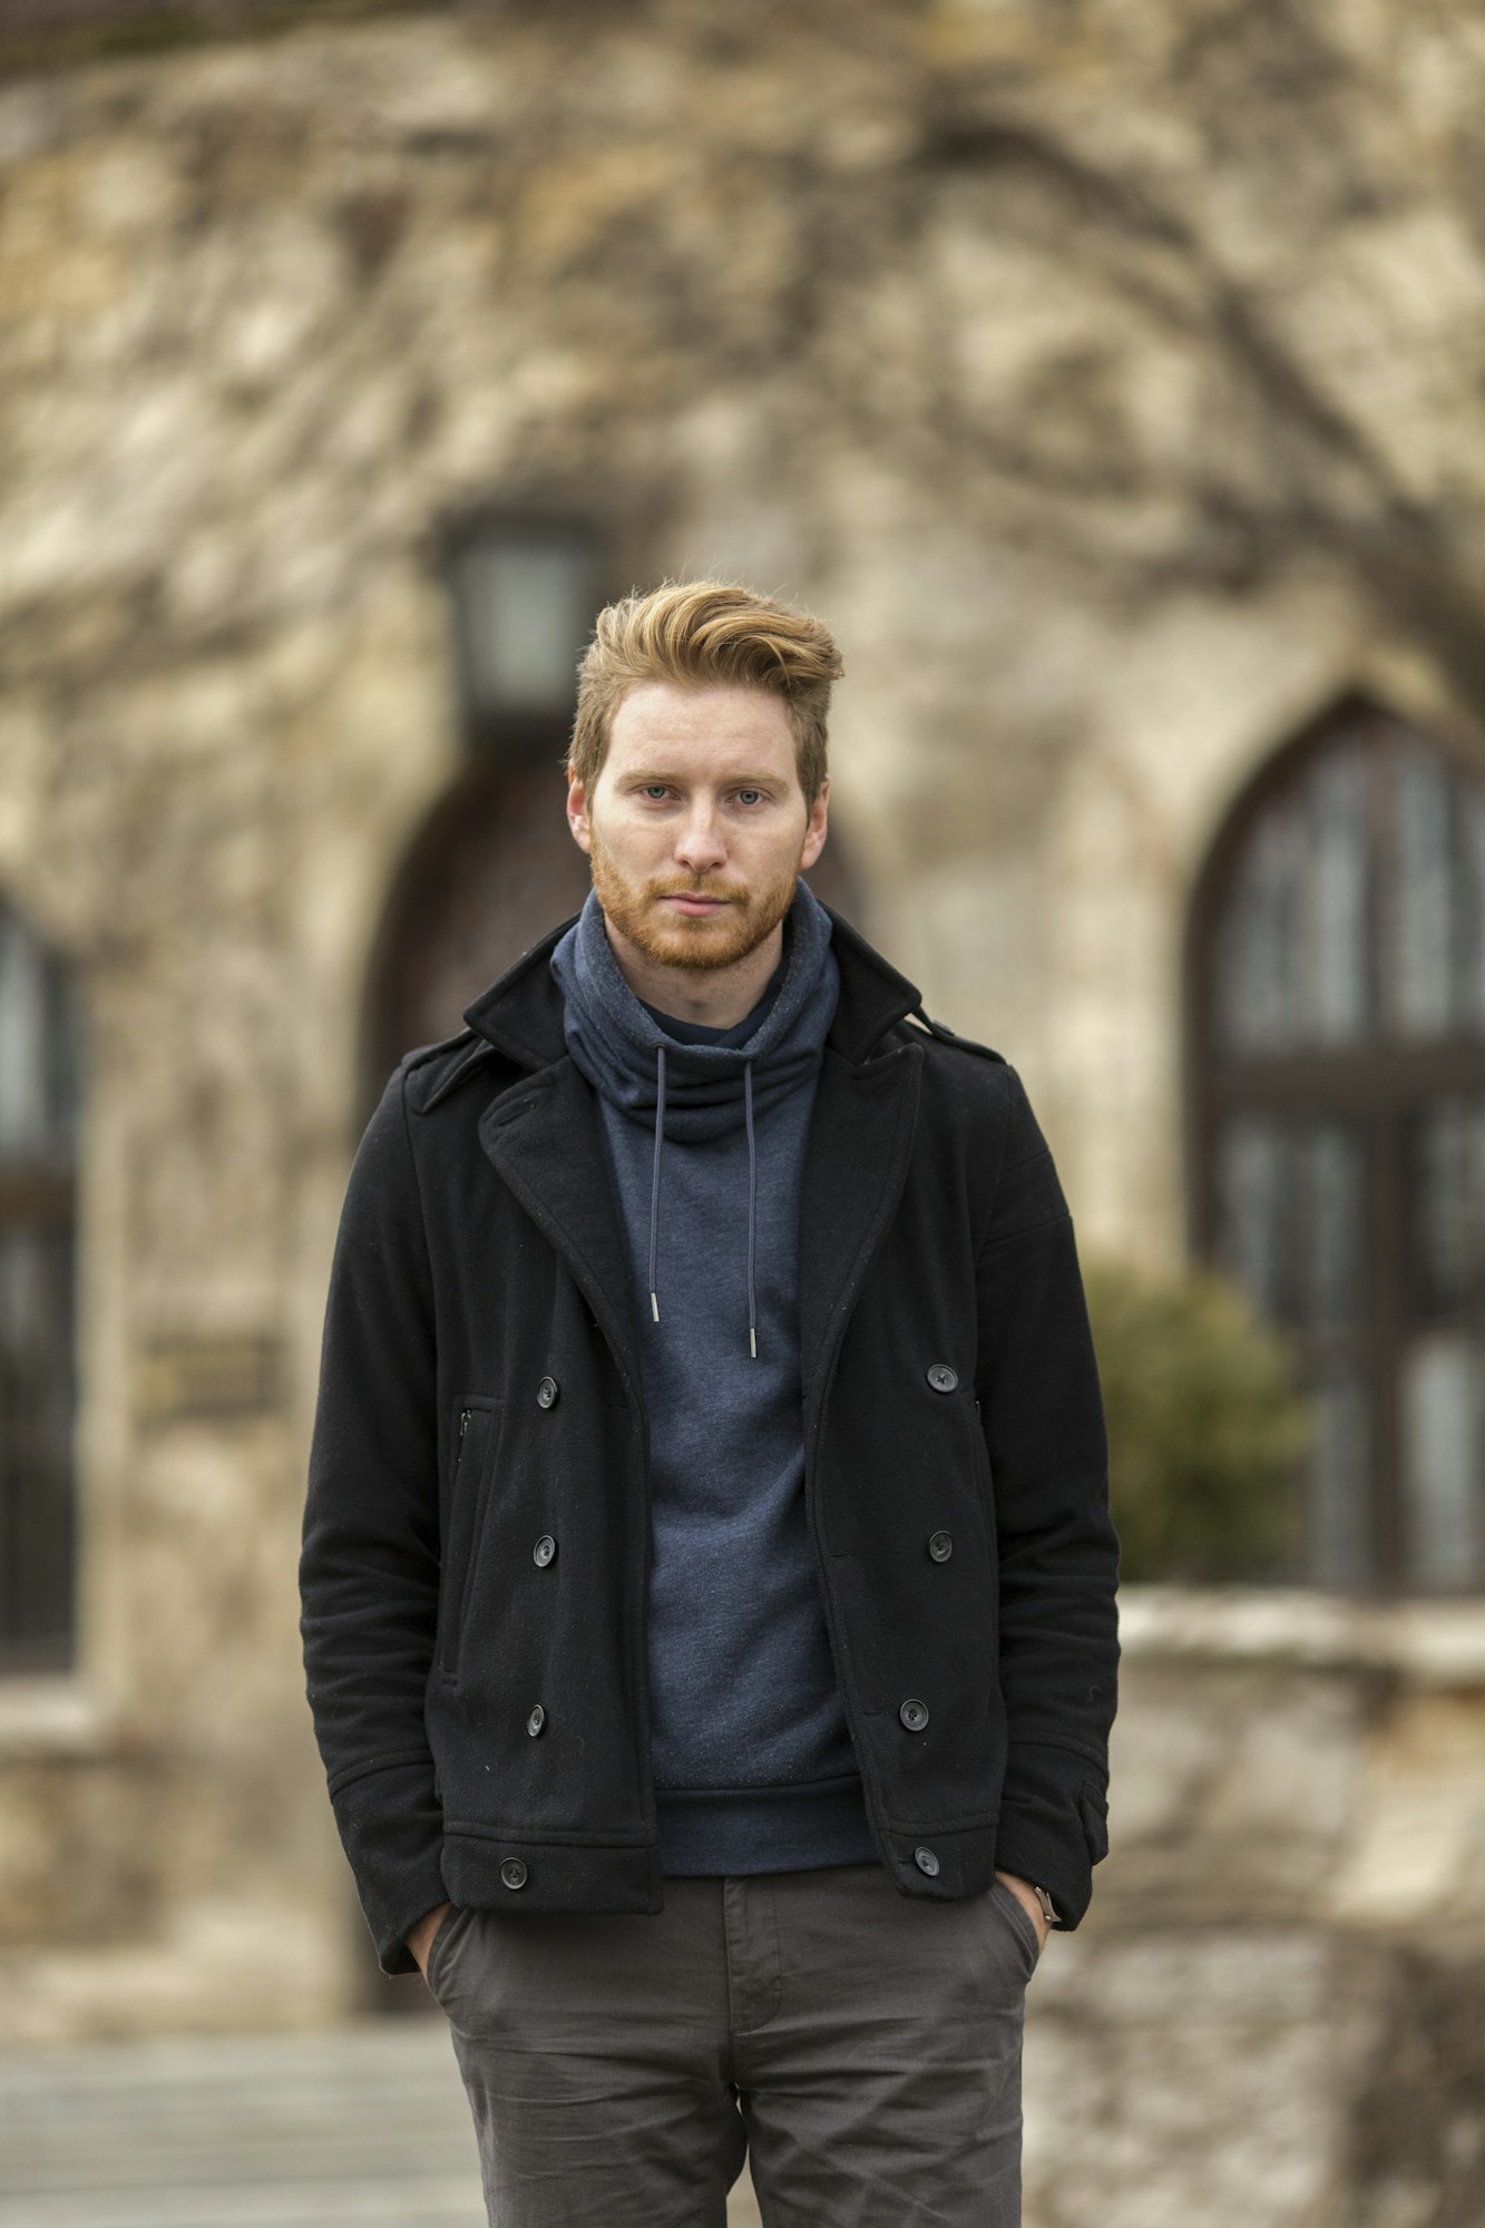
<svg viewBox="0 0 1485 2228"><path fill-rule="evenodd" d="M1396 1671L1416 1687L1485 1687L1485 1600L1356 1602L1282 1586L1122 1586L1133 1660L1197 1655Z"/></svg>

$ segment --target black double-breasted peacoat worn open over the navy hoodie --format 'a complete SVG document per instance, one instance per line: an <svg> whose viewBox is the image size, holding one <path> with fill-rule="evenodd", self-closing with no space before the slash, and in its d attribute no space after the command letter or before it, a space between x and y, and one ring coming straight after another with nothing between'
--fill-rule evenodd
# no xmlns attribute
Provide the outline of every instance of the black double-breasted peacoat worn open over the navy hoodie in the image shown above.
<svg viewBox="0 0 1485 2228"><path fill-rule="evenodd" d="M330 1274L303 1649L388 1972L446 1898L662 1907L644 1321L560 934L401 1061ZM972 1896L1001 1865L1077 1925L1106 1851L1117 1546L1072 1223L1017 1072L925 1023L838 918L834 951L800 1426L867 1816L903 1894Z"/></svg>

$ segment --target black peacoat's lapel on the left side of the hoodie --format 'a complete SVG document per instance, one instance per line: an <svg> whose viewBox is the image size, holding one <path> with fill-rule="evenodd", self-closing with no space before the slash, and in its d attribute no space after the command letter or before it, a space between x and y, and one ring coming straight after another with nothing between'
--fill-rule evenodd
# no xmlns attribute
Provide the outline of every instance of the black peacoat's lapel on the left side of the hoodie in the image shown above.
<svg viewBox="0 0 1485 2228"><path fill-rule="evenodd" d="M571 1058L555 1061L493 1098L479 1116L479 1143L566 1261L618 1357L629 1397L642 1413L640 1361L629 1332L635 1301L598 1098Z"/></svg>

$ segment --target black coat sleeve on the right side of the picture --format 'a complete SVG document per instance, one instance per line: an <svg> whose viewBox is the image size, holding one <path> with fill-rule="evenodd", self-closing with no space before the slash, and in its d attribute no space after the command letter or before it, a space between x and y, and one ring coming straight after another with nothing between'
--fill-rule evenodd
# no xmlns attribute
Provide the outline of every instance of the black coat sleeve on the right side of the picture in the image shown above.
<svg viewBox="0 0 1485 2228"><path fill-rule="evenodd" d="M1108 1854L1119 1546L1072 1219L1021 1078L1001 1074L1010 1110L977 1263L1010 1742L997 1865L1046 1887L1075 1927Z"/></svg>

